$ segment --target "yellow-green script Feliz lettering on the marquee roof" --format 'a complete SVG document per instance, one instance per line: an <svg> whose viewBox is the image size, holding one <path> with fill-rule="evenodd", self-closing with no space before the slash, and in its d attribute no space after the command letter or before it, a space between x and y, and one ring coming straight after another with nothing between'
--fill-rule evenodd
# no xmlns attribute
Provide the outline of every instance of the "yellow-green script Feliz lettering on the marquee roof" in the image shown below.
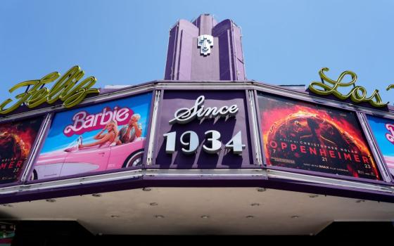
<svg viewBox="0 0 394 246"><path fill-rule="evenodd" d="M87 77L80 84L76 86L78 81L84 76L84 71L79 66L71 67L62 77L60 73L51 72L48 75L42 77L42 79L28 80L15 84L9 91L13 91L32 86L28 91L20 93L15 96L15 103L13 99L8 98L6 101L0 104L0 114L5 115L9 112L13 112L20 105L25 103L28 108L35 108L42 103L55 103L58 100L63 101L65 108L71 108L80 103L90 93L99 93L98 89L91 88L96 83L95 77ZM58 79L60 77L60 79ZM45 87L46 84L58 81L52 86L51 89ZM13 105L9 105L13 103ZM8 106L8 108L6 108Z"/></svg>

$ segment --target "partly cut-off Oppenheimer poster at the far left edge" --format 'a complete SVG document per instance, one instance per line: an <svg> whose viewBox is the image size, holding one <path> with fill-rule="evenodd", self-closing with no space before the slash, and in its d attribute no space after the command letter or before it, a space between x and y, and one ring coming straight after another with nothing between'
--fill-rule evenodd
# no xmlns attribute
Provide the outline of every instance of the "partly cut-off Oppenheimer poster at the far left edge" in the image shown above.
<svg viewBox="0 0 394 246"><path fill-rule="evenodd" d="M0 124L0 183L18 181L42 117Z"/></svg>

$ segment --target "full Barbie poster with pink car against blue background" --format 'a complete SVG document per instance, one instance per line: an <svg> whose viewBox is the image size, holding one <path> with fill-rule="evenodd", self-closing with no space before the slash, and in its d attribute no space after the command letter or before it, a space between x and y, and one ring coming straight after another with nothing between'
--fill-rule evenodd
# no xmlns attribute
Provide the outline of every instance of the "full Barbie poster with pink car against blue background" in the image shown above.
<svg viewBox="0 0 394 246"><path fill-rule="evenodd" d="M32 179L48 179L142 164L151 93L59 112Z"/></svg>

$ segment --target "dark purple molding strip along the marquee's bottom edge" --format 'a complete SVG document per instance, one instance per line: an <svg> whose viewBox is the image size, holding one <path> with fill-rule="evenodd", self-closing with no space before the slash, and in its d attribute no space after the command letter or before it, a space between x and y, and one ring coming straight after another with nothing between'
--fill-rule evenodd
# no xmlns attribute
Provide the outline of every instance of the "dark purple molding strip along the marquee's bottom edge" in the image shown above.
<svg viewBox="0 0 394 246"><path fill-rule="evenodd" d="M135 179L125 179L122 181L82 184L78 186L70 186L68 188L51 188L48 190L34 190L4 194L0 197L0 204L42 200L48 198L63 198L72 195L87 195L92 193L105 193L144 187L263 187L303 193L314 193L319 195L334 195L344 198L394 202L394 194L388 194L379 191L360 190L357 188L343 188L303 181L289 181L287 179L262 179L261 177L204 179L201 177L168 178L144 176Z"/></svg>

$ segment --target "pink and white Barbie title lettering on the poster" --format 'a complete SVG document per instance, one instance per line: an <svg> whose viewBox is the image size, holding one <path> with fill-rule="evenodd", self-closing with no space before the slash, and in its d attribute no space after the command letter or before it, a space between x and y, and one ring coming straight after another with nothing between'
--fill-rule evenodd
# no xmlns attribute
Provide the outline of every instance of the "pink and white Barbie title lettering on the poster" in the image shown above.
<svg viewBox="0 0 394 246"><path fill-rule="evenodd" d="M86 111L80 111L72 117L73 123L65 127L63 134L65 136L81 135L87 131L103 129L111 119L115 120L118 126L127 124L133 114L134 112L130 108L117 106L113 110L109 107L103 108L102 112L94 115L89 115Z"/></svg>

